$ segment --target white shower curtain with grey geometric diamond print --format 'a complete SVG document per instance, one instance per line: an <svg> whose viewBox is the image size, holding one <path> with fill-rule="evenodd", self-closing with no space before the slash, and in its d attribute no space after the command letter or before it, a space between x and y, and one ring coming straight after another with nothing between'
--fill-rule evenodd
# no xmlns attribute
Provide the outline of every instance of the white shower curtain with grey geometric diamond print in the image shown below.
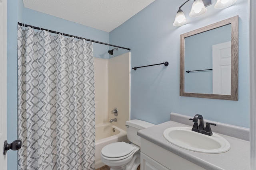
<svg viewBox="0 0 256 170"><path fill-rule="evenodd" d="M19 170L94 170L92 43L18 26Z"/></svg>

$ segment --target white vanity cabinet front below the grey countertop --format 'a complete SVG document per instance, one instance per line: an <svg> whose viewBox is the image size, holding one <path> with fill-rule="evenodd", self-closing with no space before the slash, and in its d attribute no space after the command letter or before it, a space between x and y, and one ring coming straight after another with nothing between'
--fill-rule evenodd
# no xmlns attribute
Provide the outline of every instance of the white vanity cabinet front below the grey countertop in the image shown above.
<svg viewBox="0 0 256 170"><path fill-rule="evenodd" d="M205 170L204 168L141 138L141 170Z"/></svg>

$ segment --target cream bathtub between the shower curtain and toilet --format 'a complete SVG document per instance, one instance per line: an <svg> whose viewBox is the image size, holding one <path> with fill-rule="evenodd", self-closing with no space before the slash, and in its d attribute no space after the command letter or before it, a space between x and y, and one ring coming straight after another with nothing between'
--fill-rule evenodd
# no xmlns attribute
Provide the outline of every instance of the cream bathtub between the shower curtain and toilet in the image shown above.
<svg viewBox="0 0 256 170"><path fill-rule="evenodd" d="M115 132L113 132L113 128ZM126 131L110 124L96 125L96 135L95 135L95 169L104 166L105 164L101 161L100 152L101 149L114 142L128 142Z"/></svg>

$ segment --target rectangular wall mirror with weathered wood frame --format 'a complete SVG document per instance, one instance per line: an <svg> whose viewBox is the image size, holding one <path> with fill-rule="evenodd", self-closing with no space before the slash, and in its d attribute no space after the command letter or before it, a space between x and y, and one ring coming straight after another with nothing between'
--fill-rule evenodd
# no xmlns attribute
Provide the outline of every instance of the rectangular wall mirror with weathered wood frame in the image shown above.
<svg viewBox="0 0 256 170"><path fill-rule="evenodd" d="M180 35L180 96L238 100L238 16Z"/></svg>

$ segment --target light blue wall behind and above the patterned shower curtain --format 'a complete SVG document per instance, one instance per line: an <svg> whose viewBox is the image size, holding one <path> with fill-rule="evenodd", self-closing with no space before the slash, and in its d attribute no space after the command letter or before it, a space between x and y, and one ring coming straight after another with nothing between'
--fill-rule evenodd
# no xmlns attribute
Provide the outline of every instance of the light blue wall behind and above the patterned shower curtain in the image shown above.
<svg viewBox="0 0 256 170"><path fill-rule="evenodd" d="M17 22L109 43L109 33L24 8L22 0L7 1L7 140L17 135ZM108 59L109 47L94 43L94 57ZM17 151L8 152L8 170L17 169Z"/></svg>

